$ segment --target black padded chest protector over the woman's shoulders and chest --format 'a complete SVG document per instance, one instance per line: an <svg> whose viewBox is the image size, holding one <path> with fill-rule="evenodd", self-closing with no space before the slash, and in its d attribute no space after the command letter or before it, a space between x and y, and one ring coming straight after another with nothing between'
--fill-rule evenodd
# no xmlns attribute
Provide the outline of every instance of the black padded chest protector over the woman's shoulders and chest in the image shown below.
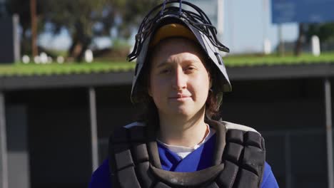
<svg viewBox="0 0 334 188"><path fill-rule="evenodd" d="M196 172L163 170L156 133L150 126L116 130L109 140L113 188L260 187L265 163L263 137L258 132L226 128L226 122L206 122L216 130L213 166Z"/></svg>

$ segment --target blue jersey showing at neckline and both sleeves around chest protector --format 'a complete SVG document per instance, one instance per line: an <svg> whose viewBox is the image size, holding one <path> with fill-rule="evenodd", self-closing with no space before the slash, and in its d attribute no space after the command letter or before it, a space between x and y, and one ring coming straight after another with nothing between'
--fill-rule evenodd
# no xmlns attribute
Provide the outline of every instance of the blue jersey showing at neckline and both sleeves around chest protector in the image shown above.
<svg viewBox="0 0 334 188"><path fill-rule="evenodd" d="M213 135L201 147L191 152L185 158L181 159L176 153L171 152L166 147L158 143L158 152L160 156L161 166L164 170L173 172L195 172L212 166L212 156L216 136ZM89 188L110 188L110 170L108 160L104 160L98 169L93 173ZM263 181L261 188L276 188L278 184L267 162L263 172Z"/></svg>

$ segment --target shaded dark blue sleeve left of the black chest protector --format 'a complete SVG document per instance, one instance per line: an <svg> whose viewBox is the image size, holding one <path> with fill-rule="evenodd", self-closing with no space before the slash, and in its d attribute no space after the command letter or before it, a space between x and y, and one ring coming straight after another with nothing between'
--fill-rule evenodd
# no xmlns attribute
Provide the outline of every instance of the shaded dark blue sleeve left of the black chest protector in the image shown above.
<svg viewBox="0 0 334 188"><path fill-rule="evenodd" d="M89 188L110 188L109 174L108 160L104 160L101 166L93 172Z"/></svg>

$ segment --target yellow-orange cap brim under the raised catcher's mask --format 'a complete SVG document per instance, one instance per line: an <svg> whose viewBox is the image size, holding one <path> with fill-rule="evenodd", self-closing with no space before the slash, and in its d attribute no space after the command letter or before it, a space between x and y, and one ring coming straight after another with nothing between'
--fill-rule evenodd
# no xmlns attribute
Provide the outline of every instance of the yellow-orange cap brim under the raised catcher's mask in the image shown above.
<svg viewBox="0 0 334 188"><path fill-rule="evenodd" d="M186 28L186 26L179 23L171 23L158 28L149 46L156 46L163 39L171 37L183 37L192 41L197 41L196 36L188 28Z"/></svg>

